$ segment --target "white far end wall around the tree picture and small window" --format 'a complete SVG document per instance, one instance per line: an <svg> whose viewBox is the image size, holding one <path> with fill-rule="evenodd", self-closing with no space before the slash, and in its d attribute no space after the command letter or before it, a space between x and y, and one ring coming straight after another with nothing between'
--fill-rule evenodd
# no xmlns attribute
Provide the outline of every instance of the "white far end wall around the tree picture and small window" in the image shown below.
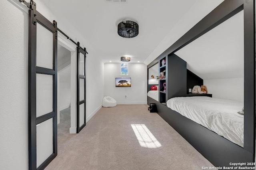
<svg viewBox="0 0 256 170"><path fill-rule="evenodd" d="M113 97L117 104L147 103L147 67L143 63L128 63L128 74L120 75L121 63L105 63L105 96ZM131 77L131 87L116 87L116 77ZM126 96L126 98L125 98Z"/></svg>

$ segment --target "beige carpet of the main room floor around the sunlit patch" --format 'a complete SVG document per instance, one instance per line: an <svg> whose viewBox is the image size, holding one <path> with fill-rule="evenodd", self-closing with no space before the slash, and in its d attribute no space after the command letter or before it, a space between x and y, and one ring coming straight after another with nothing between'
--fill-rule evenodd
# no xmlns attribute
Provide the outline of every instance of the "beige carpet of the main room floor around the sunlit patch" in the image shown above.
<svg viewBox="0 0 256 170"><path fill-rule="evenodd" d="M58 156L46 170L200 170L212 166L157 113L149 113L148 105L103 107L79 134L66 139L58 144Z"/></svg>

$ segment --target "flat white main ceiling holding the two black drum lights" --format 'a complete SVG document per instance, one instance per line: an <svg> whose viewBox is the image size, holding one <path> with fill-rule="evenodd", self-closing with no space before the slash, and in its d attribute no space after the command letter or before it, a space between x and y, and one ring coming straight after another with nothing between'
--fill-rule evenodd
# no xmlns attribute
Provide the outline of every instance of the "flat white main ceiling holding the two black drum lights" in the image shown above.
<svg viewBox="0 0 256 170"><path fill-rule="evenodd" d="M196 0L44 0L52 13L64 18L94 47L104 63L144 62ZM139 25L135 38L122 38L117 25L132 20ZM88 49L90 53L90 49Z"/></svg>

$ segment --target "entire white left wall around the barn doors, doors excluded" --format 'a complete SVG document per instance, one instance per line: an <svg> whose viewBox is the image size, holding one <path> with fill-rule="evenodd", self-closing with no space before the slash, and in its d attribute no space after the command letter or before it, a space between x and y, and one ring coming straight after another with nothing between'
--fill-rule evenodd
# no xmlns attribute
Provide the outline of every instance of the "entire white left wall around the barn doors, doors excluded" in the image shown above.
<svg viewBox="0 0 256 170"><path fill-rule="evenodd" d="M75 42L86 47L87 121L100 109L104 96L104 64L100 54L65 18L58 18L40 0L37 10ZM28 8L18 0L0 2L0 169L28 169ZM97 67L95 67L97 65ZM97 82L95 83L95 77ZM89 97L90 96L90 97Z"/></svg>

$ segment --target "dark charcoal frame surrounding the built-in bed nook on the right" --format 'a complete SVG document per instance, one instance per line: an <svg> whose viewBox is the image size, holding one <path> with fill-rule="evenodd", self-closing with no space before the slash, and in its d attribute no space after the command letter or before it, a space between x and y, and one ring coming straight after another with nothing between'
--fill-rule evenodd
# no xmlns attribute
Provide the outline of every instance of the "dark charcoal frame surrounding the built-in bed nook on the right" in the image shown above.
<svg viewBox="0 0 256 170"><path fill-rule="evenodd" d="M156 103L158 114L216 167L228 167L231 162L255 161L255 0L225 0L148 65L148 68L152 67L164 56L173 54L242 10L244 10L244 148L148 97L148 104Z"/></svg>

